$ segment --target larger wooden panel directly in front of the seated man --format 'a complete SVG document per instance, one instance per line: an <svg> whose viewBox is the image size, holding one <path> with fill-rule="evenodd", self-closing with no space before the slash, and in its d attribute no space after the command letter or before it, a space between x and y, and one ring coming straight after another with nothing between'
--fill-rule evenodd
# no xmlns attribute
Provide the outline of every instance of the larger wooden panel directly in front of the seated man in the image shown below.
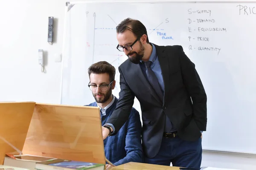
<svg viewBox="0 0 256 170"><path fill-rule="evenodd" d="M36 103L23 154L105 164L99 108Z"/></svg>

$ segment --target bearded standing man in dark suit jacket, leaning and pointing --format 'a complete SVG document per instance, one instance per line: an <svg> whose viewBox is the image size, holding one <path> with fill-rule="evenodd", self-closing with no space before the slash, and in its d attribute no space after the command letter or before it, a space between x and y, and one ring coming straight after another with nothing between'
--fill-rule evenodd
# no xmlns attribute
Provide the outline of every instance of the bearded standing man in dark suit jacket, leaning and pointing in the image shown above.
<svg viewBox="0 0 256 170"><path fill-rule="evenodd" d="M207 95L195 65L180 45L158 46L145 26L127 18L116 27L117 49L128 59L119 66L119 101L102 127L114 136L140 102L145 163L201 166L201 132L207 125ZM109 130L111 129L111 131Z"/></svg>

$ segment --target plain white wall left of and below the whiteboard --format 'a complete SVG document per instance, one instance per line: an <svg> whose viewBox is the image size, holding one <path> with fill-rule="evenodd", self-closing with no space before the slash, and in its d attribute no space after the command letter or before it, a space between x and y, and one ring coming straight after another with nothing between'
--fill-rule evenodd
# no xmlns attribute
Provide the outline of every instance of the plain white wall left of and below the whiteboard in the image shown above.
<svg viewBox="0 0 256 170"><path fill-rule="evenodd" d="M55 55L62 52L66 1L0 0L0 2L2 5L0 10L0 101L59 104L61 62L55 62ZM47 42L49 16L56 19L53 45ZM38 49L43 49L47 56L45 67L47 73L42 73L41 66L38 65ZM202 166L255 169L256 155L204 151Z"/></svg>

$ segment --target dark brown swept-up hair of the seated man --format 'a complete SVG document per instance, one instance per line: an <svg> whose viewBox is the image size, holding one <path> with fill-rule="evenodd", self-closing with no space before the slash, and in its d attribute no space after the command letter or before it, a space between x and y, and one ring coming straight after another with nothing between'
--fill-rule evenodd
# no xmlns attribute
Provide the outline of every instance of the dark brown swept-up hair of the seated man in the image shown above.
<svg viewBox="0 0 256 170"><path fill-rule="evenodd" d="M109 80L113 81L115 79L115 75L116 75L116 68L114 68L113 65L111 65L110 63L108 63L106 61L100 61L100 62L96 62L96 63L92 64L88 68L89 77L90 77L91 73L95 73L95 74L108 73Z"/></svg>

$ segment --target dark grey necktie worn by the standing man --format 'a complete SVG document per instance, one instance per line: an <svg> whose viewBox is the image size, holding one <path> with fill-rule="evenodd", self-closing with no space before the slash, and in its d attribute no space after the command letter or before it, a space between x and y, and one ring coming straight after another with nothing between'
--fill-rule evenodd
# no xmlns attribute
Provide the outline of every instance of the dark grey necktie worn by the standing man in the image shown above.
<svg viewBox="0 0 256 170"><path fill-rule="evenodd" d="M161 90L161 87L157 80L157 77L154 74L154 71L152 71L152 69L150 68L151 63L152 63L151 61L145 62L148 82L150 83L152 88L154 88L155 92L160 97L161 101L163 102L163 92ZM171 123L170 119L168 118L168 116L166 116L165 132L168 133L171 130L172 130L172 123Z"/></svg>

